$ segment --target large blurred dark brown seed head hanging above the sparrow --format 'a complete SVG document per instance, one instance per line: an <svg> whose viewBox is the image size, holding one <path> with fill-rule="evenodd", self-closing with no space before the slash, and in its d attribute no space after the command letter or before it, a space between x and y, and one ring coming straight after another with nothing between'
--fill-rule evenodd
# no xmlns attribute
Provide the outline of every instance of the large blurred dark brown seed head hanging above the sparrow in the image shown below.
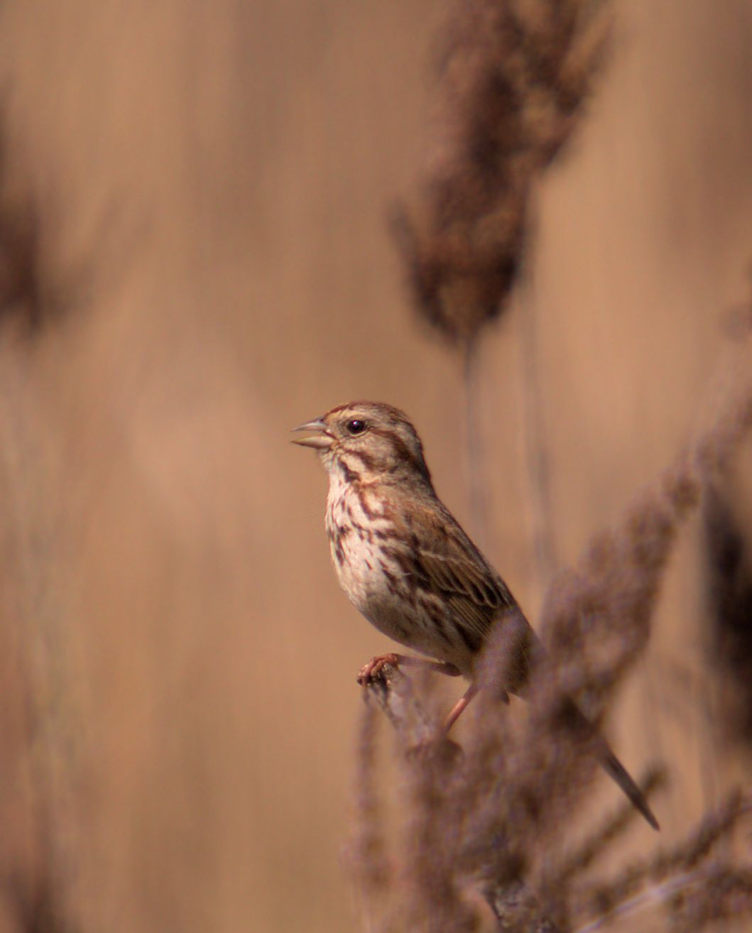
<svg viewBox="0 0 752 933"><path fill-rule="evenodd" d="M396 218L416 307L469 344L520 268L535 182L573 132L606 49L592 0L464 0L439 54L436 150Z"/></svg>

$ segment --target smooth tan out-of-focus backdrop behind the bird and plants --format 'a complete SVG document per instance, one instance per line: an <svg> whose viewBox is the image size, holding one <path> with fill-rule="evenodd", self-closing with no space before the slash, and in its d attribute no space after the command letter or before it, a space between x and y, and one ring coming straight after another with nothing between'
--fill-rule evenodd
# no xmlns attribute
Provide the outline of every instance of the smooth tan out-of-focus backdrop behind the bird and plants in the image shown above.
<svg viewBox="0 0 752 933"><path fill-rule="evenodd" d="M752 260L752 7L616 10L591 117L540 191L527 285L481 348L489 550L533 618L527 322L561 565L701 423ZM416 325L385 224L429 151L443 12L2 9L11 169L54 218L49 274L74 284L57 323L3 351L3 547L21 558L2 933L25 928L13 884L50 846L84 930L355 928L355 671L385 642L337 588L325 478L287 431L354 397L397 404L469 521L461 368ZM634 770L680 765L656 804L667 839L745 770L716 752L697 537L615 723Z"/></svg>

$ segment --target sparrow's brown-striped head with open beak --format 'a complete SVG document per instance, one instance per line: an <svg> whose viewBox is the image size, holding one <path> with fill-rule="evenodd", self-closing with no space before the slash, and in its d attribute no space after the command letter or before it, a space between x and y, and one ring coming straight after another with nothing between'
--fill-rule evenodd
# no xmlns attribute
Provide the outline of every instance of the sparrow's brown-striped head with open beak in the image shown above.
<svg viewBox="0 0 752 933"><path fill-rule="evenodd" d="M330 474L339 469L358 480L391 474L430 482L421 439L407 416L391 405L348 402L294 430L308 437L293 443L313 447Z"/></svg>

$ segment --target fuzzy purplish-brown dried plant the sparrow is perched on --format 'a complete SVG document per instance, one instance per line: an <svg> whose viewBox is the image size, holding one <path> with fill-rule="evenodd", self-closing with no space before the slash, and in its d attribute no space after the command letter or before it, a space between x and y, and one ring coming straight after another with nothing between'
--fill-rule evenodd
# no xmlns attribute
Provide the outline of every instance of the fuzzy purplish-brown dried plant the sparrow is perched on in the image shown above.
<svg viewBox="0 0 752 933"><path fill-rule="evenodd" d="M453 745L444 742L433 745L432 753L401 756L404 833L391 840L393 880L383 881L381 898L391 906L381 926L370 928L477 929L478 911L468 891L480 891L499 928L520 933L575 930L583 924L595 929L613 914L656 905L676 929L702 929L752 908L750 867L733 849L717 856L717 842L729 838L748 815L748 797L731 796L684 842L626 866L609 882L593 883L591 872L632 825L634 811L621 809L578 848L565 831L574 812L584 808L597 773L592 733L572 716L571 698L593 721L602 720L624 675L647 647L683 523L750 427L747 376L744 390L715 424L615 528L592 542L577 568L554 581L539 626L549 654L534 672L526 717L514 715L500 699L517 648L508 630L499 632L483 658L483 689L468 714L463 754L451 754ZM406 703L400 677L372 694L389 710L404 753L421 733L425 737L425 713L416 711L414 698ZM390 689L400 696L397 706L389 703ZM405 726L406 719L411 725ZM361 759L361 787L366 773L373 781L369 762ZM657 780L653 770L645 787L655 787ZM360 815L368 823L368 808ZM358 833L367 838L372 829L361 826ZM382 852L386 842L382 836ZM362 881L362 866L359 874Z"/></svg>

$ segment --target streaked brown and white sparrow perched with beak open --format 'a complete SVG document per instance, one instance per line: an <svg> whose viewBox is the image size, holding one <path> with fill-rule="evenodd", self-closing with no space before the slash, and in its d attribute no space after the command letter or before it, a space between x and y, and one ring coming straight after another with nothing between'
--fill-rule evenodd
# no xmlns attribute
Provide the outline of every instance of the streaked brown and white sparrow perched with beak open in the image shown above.
<svg viewBox="0 0 752 933"><path fill-rule="evenodd" d="M543 648L504 580L439 500L407 417L391 405L350 402L295 430L308 433L294 442L316 450L328 473L327 535L344 592L383 634L437 659L423 663L470 680L447 728L477 692L476 661L494 625L508 626L519 639L505 684L519 693ZM373 658L360 682L387 661L416 662L397 654ZM596 746L606 772L658 829L648 801L606 740L598 736Z"/></svg>

